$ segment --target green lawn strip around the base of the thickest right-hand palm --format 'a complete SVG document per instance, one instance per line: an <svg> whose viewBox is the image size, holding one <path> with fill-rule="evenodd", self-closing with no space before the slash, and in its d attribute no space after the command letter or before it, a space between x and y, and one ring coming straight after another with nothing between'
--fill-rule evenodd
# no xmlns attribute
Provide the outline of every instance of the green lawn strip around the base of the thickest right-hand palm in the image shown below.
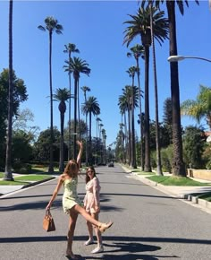
<svg viewBox="0 0 211 260"><path fill-rule="evenodd" d="M201 183L187 177L150 176L147 178L165 186L210 186L210 183Z"/></svg>

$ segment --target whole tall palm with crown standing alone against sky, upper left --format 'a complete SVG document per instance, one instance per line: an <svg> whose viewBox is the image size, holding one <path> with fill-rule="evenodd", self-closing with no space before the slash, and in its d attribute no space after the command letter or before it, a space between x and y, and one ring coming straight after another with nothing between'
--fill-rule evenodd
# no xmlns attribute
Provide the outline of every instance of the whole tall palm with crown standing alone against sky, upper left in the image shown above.
<svg viewBox="0 0 211 260"><path fill-rule="evenodd" d="M52 17L47 16L45 19L45 27L42 25L38 26L39 30L48 31L49 33L49 79L50 79L50 163L49 163L49 173L54 172L54 154L53 154L53 142L54 142L54 124L53 124L53 87L52 87L52 36L55 31L56 34L62 34L63 26L58 23L58 21Z"/></svg>

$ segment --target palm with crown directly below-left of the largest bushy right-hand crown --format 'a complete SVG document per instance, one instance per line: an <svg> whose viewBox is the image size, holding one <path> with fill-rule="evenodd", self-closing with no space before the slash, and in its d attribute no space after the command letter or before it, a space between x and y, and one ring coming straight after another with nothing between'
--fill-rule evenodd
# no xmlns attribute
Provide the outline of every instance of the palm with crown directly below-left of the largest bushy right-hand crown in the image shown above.
<svg viewBox="0 0 211 260"><path fill-rule="evenodd" d="M133 55L136 60L137 66L137 79L138 79L138 87L139 87L139 115L142 115L142 106L141 106L141 89L140 89L140 80L139 80L139 57L144 59L144 47L143 45L136 44L132 48L130 48L131 52L127 53L127 56ZM140 165L141 170L144 170L144 147L143 147L143 124L140 122Z"/></svg>

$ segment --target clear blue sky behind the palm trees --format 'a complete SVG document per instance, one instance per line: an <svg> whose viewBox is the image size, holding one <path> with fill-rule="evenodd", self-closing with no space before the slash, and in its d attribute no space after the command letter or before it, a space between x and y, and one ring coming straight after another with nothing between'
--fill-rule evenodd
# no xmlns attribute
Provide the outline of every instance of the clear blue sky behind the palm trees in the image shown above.
<svg viewBox="0 0 211 260"><path fill-rule="evenodd" d="M177 10L178 55L211 58L211 12L208 0L199 1L199 6L190 1L184 16ZM8 67L8 1L0 0L0 72ZM165 9L165 4L162 5ZM121 116L118 98L122 88L131 84L126 71L135 65L126 56L128 48L122 46L123 22L130 20L128 14L135 14L138 1L14 1L13 4L13 69L23 79L29 100L21 104L21 109L30 108L34 114L33 126L41 130L50 126L49 78L48 78L48 34L38 30L44 25L46 16L54 16L63 25L63 35L53 36L53 88L68 88L68 75L63 72L64 45L76 44L80 58L86 60L91 69L90 76L80 76L80 87L89 86L88 93L95 96L101 108L107 140L115 141ZM166 15L167 16L167 15ZM139 43L135 39L130 48ZM156 67L159 99L159 120L163 119L163 106L170 92L170 69L168 40L160 47L156 44ZM144 86L144 63L140 62L140 82ZM179 63L181 101L196 99L199 84L211 87L211 64L187 59ZM150 71L149 82L150 117L155 118L154 80ZM83 93L80 91L80 101ZM142 101L143 103L143 101ZM54 104L54 125L59 128L58 103ZM136 115L139 114L139 108ZM68 113L65 115L65 122ZM195 125L189 117L181 117L182 126ZM207 126L205 126L207 127ZM93 120L93 134L96 134ZM139 136L139 126L136 126Z"/></svg>

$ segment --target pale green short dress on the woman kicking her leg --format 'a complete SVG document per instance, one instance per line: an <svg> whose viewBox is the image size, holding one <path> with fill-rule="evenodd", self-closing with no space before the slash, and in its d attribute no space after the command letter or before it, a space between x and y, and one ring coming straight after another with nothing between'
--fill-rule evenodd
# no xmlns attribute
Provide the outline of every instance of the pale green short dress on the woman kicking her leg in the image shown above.
<svg viewBox="0 0 211 260"><path fill-rule="evenodd" d="M77 193L78 178L66 178L63 181L63 212L69 214L74 205L80 204Z"/></svg>

